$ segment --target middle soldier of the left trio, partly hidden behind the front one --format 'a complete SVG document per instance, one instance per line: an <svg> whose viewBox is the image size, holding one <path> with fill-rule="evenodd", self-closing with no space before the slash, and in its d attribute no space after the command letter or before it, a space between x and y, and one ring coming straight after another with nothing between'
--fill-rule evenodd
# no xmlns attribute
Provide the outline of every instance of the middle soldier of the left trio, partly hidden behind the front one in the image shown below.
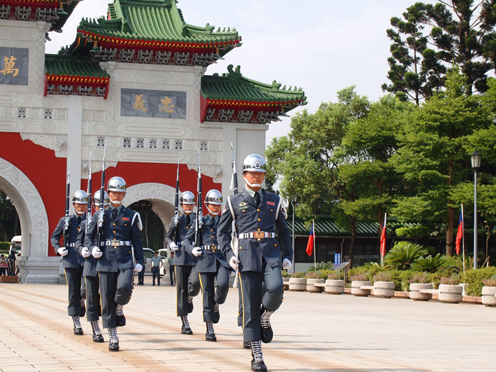
<svg viewBox="0 0 496 372"><path fill-rule="evenodd" d="M104 192L103 207L107 208L110 205L108 194ZM93 206L95 211L100 210L100 190L96 191L93 196ZM104 342L103 335L101 334L100 327L98 326L98 319L100 317L100 291L98 274L96 273L96 258L91 256L88 247L91 247L89 240L86 246L86 220L81 222L79 234L77 235L76 247L77 252L84 257L83 276L86 283L86 320L91 322L91 329L93 329L93 342Z"/></svg>

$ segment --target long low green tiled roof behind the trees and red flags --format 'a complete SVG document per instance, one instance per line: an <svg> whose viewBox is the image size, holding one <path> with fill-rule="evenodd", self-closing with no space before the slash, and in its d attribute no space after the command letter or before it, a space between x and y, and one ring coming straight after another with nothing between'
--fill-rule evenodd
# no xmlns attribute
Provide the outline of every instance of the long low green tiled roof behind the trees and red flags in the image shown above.
<svg viewBox="0 0 496 372"><path fill-rule="evenodd" d="M291 215L288 216L288 228L293 230L293 220ZM398 222L397 218L388 217L387 235L395 236L395 230L398 227L415 227L417 223ZM310 226L306 226L303 220L295 218L295 235L308 236L310 234ZM351 232L346 228L337 226L332 218L328 216L320 216L315 219L315 235L320 237L349 237ZM356 222L356 235L359 237L378 237L379 224L378 222Z"/></svg>

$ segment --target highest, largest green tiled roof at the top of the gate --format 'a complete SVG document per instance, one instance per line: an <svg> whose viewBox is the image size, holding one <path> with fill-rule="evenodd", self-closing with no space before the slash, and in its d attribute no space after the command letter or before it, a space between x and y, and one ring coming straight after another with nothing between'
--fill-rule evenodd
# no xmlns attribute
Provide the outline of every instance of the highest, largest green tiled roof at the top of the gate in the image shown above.
<svg viewBox="0 0 496 372"><path fill-rule="evenodd" d="M78 32L125 40L152 40L192 44L226 44L237 40L236 30L213 31L188 25L175 0L114 0L108 5L110 19L83 20ZM234 47L235 45L231 45ZM229 50L220 50L220 55Z"/></svg>

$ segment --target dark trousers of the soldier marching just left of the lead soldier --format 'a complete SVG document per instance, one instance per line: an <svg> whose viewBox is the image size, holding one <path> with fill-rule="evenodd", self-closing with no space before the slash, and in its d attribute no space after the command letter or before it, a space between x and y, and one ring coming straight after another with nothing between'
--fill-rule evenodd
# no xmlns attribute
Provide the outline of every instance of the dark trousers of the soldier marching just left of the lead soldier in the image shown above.
<svg viewBox="0 0 496 372"><path fill-rule="evenodd" d="M225 303L229 292L229 270L217 261L217 272L200 273L200 285L203 291L203 322L213 322L215 303ZM215 288L217 280L217 288Z"/></svg>

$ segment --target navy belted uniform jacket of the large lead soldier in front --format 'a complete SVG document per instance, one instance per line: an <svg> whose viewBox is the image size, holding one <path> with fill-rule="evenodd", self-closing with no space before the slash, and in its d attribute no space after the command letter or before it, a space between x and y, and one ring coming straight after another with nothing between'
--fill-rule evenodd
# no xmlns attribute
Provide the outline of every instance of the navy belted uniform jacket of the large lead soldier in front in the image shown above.
<svg viewBox="0 0 496 372"><path fill-rule="evenodd" d="M229 196L235 215L237 233L275 232L276 237L239 239L239 271L262 271L262 257L271 267L281 266L282 259L293 259L291 235L286 224L283 201L274 193L263 190L264 197L257 208L246 191ZM218 227L220 249L227 261L235 256L231 248L232 213L229 203L220 217Z"/></svg>

